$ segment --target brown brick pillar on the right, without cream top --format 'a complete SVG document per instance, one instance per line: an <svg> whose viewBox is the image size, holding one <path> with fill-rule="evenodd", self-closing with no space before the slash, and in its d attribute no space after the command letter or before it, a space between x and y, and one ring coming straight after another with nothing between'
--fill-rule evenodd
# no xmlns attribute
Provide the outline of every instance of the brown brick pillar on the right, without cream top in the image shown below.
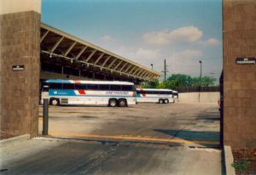
<svg viewBox="0 0 256 175"><path fill-rule="evenodd" d="M256 148L256 65L236 58L256 57L256 1L223 0L224 145Z"/></svg>

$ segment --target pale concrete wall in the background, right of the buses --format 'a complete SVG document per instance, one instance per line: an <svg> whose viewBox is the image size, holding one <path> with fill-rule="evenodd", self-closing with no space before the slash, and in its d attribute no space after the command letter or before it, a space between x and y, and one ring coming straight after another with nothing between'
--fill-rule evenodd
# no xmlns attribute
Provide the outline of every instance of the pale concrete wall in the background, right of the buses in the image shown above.
<svg viewBox="0 0 256 175"><path fill-rule="evenodd" d="M200 93L178 93L179 102L200 102ZM219 92L201 93L201 102L218 103Z"/></svg>

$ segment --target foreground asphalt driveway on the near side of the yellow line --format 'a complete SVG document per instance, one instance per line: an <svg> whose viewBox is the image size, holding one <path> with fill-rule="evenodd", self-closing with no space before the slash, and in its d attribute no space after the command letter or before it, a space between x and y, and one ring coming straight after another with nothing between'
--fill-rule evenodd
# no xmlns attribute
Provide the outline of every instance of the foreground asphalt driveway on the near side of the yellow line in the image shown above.
<svg viewBox="0 0 256 175"><path fill-rule="evenodd" d="M221 151L33 138L0 148L1 174L222 174Z"/></svg>

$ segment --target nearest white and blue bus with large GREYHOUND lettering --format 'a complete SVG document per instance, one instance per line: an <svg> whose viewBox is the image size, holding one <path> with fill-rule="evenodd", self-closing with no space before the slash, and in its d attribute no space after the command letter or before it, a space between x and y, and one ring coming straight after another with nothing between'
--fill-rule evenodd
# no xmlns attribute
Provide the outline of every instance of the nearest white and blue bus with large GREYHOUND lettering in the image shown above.
<svg viewBox="0 0 256 175"><path fill-rule="evenodd" d="M136 88L132 82L99 82L77 80L46 80L42 85L41 103L108 104L125 107L136 104Z"/></svg>

